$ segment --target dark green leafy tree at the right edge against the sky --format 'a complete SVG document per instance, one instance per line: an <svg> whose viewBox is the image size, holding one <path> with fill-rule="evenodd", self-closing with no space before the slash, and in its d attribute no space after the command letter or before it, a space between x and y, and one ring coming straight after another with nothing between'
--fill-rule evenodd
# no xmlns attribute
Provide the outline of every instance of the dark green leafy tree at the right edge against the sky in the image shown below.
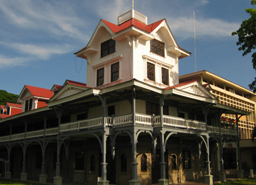
<svg viewBox="0 0 256 185"><path fill-rule="evenodd" d="M256 5L256 0L251 1L252 5ZM256 49L256 10L253 8L248 8L245 10L248 14L251 15L248 20L242 21L240 29L237 29L236 32L232 33L232 36L238 36L237 46L241 45L238 50L244 51L242 56L246 56L248 53L251 53ZM256 51L252 54L253 69L256 70ZM256 77L252 84L248 85L253 93L256 93Z"/></svg>

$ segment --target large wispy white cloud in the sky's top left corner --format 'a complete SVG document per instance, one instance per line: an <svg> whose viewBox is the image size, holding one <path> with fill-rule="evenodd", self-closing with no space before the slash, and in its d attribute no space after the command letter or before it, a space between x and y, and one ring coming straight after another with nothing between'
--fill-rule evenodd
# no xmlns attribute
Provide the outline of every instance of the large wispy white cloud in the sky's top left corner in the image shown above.
<svg viewBox="0 0 256 185"><path fill-rule="evenodd" d="M56 36L85 40L86 23L76 16L71 4L64 1L1 1L0 12L14 27L38 30Z"/></svg>

